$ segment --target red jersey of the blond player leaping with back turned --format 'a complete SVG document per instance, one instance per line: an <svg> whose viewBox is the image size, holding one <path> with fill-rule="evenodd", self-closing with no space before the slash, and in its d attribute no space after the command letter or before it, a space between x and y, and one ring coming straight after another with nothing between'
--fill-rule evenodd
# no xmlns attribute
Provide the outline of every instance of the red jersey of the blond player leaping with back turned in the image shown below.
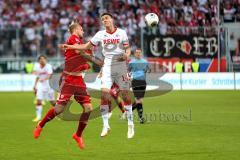
<svg viewBox="0 0 240 160"><path fill-rule="evenodd" d="M77 35L71 35L68 40L67 44L83 44L83 40L78 37ZM89 54L89 52L87 52ZM83 58L76 50L67 49L65 51L65 66L64 71L67 72L81 72L83 70L87 70L90 68L87 60Z"/></svg>

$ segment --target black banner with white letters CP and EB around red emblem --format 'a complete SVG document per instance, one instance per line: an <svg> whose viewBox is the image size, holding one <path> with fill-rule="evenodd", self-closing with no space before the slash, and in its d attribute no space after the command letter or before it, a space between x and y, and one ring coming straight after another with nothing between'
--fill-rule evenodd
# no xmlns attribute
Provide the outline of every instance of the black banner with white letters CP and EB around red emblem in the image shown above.
<svg viewBox="0 0 240 160"><path fill-rule="evenodd" d="M144 53L161 58L216 58L217 35L144 35Z"/></svg>

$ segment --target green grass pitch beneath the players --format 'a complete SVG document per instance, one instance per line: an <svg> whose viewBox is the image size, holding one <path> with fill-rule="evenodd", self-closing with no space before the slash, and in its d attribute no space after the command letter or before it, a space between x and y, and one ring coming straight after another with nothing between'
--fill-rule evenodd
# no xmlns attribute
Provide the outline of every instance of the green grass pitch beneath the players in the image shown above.
<svg viewBox="0 0 240 160"><path fill-rule="evenodd" d="M55 119L33 139L36 125L33 93L0 93L0 160L238 160L240 157L240 91L172 91L147 98L149 122L136 123L135 137L116 108L111 133L100 138L101 118L84 132L79 150L71 135L77 122ZM96 107L99 100L93 99ZM78 110L78 105L74 103ZM44 106L44 113L49 105ZM79 109L80 111L80 109ZM135 113L136 114L136 113Z"/></svg>

